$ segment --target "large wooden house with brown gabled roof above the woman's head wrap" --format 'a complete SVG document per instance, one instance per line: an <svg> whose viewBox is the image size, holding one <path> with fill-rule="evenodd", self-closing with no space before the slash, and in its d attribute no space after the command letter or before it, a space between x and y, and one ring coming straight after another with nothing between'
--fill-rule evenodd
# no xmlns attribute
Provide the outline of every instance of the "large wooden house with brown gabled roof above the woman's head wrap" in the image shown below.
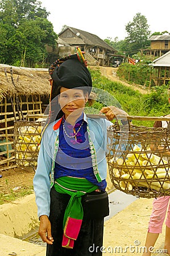
<svg viewBox="0 0 170 256"><path fill-rule="evenodd" d="M69 51L71 51L70 54L72 54L75 52L76 47L79 47L81 51L85 51L86 59L88 60L88 63L90 62L90 65L94 61L94 65L99 64L110 67L111 57L117 53L113 47L109 46L109 44L97 35L77 28L66 27L58 36L60 56L63 54L65 55L65 53L68 53Z"/></svg>

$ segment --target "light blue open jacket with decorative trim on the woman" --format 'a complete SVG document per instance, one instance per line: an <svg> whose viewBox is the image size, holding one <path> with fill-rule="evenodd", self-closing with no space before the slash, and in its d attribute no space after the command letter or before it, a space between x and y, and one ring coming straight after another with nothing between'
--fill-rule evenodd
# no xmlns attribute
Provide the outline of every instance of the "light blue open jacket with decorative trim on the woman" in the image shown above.
<svg viewBox="0 0 170 256"><path fill-rule="evenodd" d="M85 114L84 120L87 122L94 175L100 182L106 179L107 175L107 127L113 123L104 118L89 118ZM60 120L55 123L58 122ZM55 123L49 124L44 131L38 156L38 167L33 180L38 216L49 216L49 193L54 183L55 158L59 147L59 127L54 130Z"/></svg>

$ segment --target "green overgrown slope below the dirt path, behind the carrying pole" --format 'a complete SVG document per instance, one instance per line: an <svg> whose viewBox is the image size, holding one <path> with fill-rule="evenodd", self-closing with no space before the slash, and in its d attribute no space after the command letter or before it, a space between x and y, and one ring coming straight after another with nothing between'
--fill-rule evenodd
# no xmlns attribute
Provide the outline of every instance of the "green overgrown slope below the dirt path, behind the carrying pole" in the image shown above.
<svg viewBox="0 0 170 256"><path fill-rule="evenodd" d="M118 104L117 107L125 110L129 115L140 116L161 116L169 113L168 88L167 86L156 86L149 94L142 94L133 90L121 82L113 82L104 76L100 71L90 69L93 79L93 86L109 92L115 97ZM98 109L100 104L93 105ZM153 121L133 121L136 125L145 125L152 127Z"/></svg>

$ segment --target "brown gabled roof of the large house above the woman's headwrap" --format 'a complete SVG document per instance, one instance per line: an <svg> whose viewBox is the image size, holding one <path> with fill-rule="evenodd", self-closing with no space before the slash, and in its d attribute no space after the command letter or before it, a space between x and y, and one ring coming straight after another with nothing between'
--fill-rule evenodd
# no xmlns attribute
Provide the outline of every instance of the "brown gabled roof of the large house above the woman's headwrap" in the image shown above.
<svg viewBox="0 0 170 256"><path fill-rule="evenodd" d="M67 30L67 29L71 30L75 35L77 33L80 33L80 38L79 39L82 39L83 43L79 43L79 44L88 44L89 46L92 46L92 47L93 46L101 46L103 48L106 48L107 50L110 50L111 52L115 52L115 49L113 47L109 46L109 44L107 44L104 40L99 38L97 35L94 35L94 34L91 34L89 32L79 30L79 29L73 28L73 27L65 28L65 30ZM59 36L61 34L63 34L64 31L60 32ZM74 39L73 38L67 38L67 39L63 38L63 40L67 43L69 43L69 42L73 43L73 41L74 41L74 44L78 44L76 38L74 38Z"/></svg>

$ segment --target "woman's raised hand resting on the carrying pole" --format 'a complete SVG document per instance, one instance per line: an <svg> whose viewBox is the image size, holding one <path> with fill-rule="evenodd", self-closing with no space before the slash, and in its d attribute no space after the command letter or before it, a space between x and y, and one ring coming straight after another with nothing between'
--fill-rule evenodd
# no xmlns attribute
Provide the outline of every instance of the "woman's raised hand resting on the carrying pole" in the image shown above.
<svg viewBox="0 0 170 256"><path fill-rule="evenodd" d="M100 112L105 114L109 121L113 120L117 115L128 115L125 111L118 109L115 106L103 107Z"/></svg>

